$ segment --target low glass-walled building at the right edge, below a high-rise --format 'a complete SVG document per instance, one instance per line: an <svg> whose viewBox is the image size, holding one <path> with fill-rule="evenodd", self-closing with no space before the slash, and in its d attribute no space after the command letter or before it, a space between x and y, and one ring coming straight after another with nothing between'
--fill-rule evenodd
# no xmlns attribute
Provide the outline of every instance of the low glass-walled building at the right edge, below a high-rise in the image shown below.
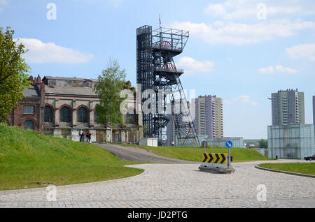
<svg viewBox="0 0 315 222"><path fill-rule="evenodd" d="M314 124L268 126L268 157L303 159L315 154Z"/></svg>

